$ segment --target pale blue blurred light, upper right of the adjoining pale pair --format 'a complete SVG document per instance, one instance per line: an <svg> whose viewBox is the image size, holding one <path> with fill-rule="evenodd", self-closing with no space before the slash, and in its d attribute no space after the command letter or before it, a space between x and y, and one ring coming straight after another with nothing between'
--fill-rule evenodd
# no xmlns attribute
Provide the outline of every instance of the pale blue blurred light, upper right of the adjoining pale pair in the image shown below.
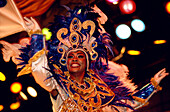
<svg viewBox="0 0 170 112"><path fill-rule="evenodd" d="M131 22L132 28L137 32L143 32L145 30L145 24L140 19L134 19Z"/></svg>

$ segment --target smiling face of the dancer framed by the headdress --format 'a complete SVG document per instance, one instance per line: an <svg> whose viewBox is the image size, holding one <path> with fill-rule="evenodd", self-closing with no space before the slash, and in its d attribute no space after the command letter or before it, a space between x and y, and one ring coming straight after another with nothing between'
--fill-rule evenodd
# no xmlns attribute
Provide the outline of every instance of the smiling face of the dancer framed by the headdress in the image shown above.
<svg viewBox="0 0 170 112"><path fill-rule="evenodd" d="M68 54L67 68L70 73L85 73L86 56L83 51L73 51Z"/></svg>

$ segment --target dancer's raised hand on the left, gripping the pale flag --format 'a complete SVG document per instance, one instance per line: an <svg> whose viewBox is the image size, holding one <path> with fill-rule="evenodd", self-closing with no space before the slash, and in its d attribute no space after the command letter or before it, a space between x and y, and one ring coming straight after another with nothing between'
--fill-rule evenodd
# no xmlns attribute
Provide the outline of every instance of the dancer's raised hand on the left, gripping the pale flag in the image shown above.
<svg viewBox="0 0 170 112"><path fill-rule="evenodd" d="M24 20L25 20L25 25L26 25L25 29L28 33L30 31L33 31L33 32L35 32L37 30L41 31L39 24L37 23L37 21L34 18L30 17L30 19L29 19L27 17L24 17Z"/></svg>

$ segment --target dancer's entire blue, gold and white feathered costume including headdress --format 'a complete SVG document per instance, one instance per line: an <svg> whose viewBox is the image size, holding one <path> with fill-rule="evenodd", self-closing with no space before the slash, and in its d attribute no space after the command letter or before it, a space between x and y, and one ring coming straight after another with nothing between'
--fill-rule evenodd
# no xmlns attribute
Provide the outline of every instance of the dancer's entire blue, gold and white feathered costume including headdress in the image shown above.
<svg viewBox="0 0 170 112"><path fill-rule="evenodd" d="M112 42L98 18L99 14L89 6L76 7L65 17L55 17L49 27L50 40L45 41L40 31L32 32L30 45L20 49L18 59L22 63L18 65L22 67L18 76L33 73L46 90L56 90L57 95L51 94L55 112L102 112L105 107L113 111L124 111L124 107L133 110L131 104L137 101L137 106L143 106L160 89L152 81L134 92L136 86L127 78L127 68L108 60ZM70 78L66 66L68 54L73 51L86 55L83 84ZM42 75L46 78L41 79Z"/></svg>

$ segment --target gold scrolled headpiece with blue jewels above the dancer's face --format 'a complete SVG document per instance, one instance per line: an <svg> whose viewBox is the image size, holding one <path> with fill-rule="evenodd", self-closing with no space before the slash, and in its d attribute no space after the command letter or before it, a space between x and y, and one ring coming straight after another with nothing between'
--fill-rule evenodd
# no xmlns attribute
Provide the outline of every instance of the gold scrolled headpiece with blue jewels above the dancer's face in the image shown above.
<svg viewBox="0 0 170 112"><path fill-rule="evenodd" d="M97 42L95 38L92 36L95 31L95 23L91 20L86 20L83 23L78 18L73 18L70 23L70 29L61 28L58 30L56 36L60 41L60 46L58 47L58 52L62 54L60 59L60 63L65 65L66 59L65 54L70 50L82 49L86 53L87 51L90 54L90 59L95 60L98 57L98 53L94 50L97 47ZM81 30L89 30L89 34L84 35L81 33ZM63 38L62 35L67 35ZM87 55L86 55L87 56Z"/></svg>

